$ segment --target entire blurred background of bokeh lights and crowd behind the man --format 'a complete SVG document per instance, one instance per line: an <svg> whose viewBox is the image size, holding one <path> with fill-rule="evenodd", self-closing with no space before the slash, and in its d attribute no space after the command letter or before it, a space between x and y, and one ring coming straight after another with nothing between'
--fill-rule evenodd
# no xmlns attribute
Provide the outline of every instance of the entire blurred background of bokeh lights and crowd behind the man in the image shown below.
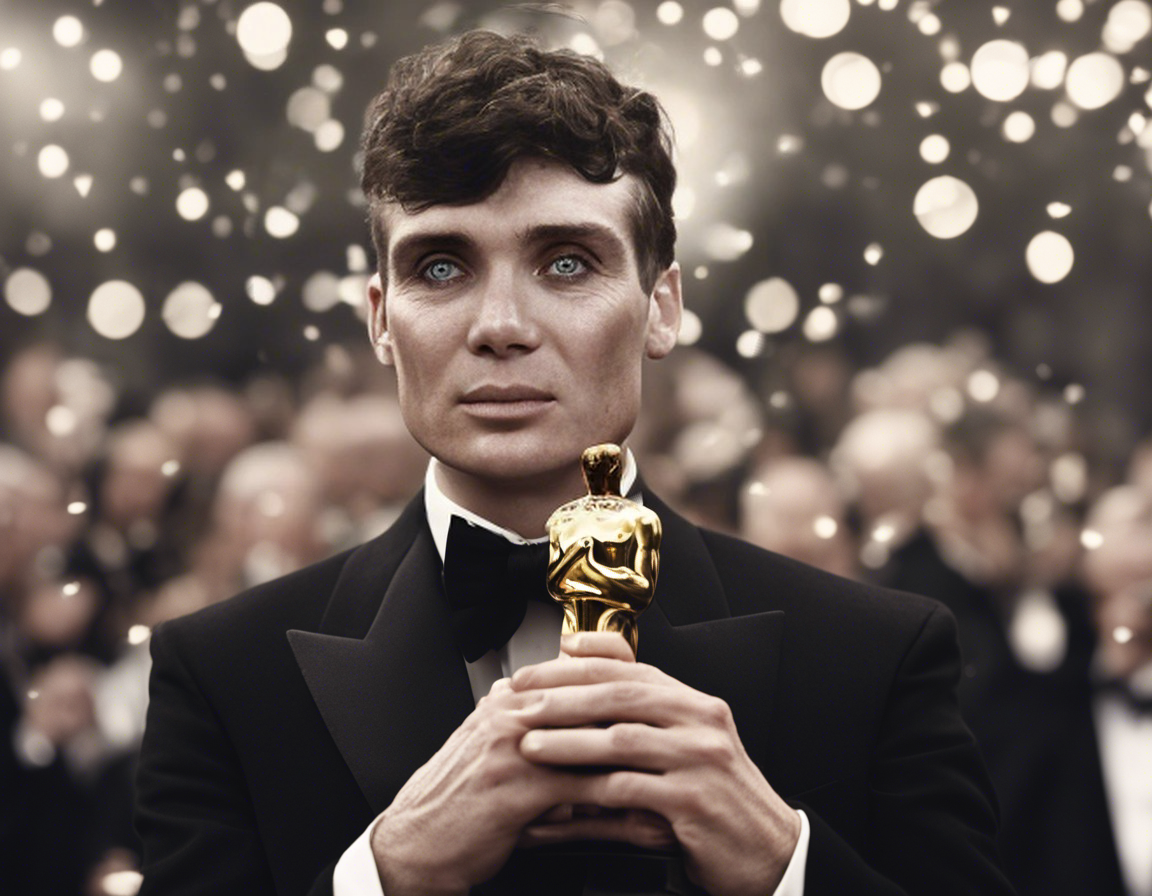
<svg viewBox="0 0 1152 896"><path fill-rule="evenodd" d="M1146 0L0 0L0 890L135 893L151 628L419 487L357 139L473 26L675 126L649 484L946 602L1017 887L1152 895Z"/></svg>

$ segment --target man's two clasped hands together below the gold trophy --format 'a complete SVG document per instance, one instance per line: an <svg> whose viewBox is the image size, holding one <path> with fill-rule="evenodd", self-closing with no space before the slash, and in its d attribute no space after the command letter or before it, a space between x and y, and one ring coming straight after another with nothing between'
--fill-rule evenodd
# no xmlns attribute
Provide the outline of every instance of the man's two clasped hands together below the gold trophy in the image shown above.
<svg viewBox="0 0 1152 896"><path fill-rule="evenodd" d="M679 844L717 896L766 896L799 818L749 759L728 705L637 663L616 633L501 679L401 788L372 834L388 896L467 893L511 850Z"/></svg>

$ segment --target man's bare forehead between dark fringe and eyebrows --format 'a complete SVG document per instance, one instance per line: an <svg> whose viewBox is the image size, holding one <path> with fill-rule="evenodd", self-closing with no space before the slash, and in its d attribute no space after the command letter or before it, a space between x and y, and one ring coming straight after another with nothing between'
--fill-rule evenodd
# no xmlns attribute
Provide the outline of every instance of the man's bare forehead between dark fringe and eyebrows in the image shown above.
<svg viewBox="0 0 1152 896"><path fill-rule="evenodd" d="M465 205L434 205L419 212L386 204L380 214L389 255L411 238L439 234L467 235L482 244L522 242L526 234L597 229L619 241L631 257L631 220L636 179L591 183L566 165L522 159L491 196Z"/></svg>

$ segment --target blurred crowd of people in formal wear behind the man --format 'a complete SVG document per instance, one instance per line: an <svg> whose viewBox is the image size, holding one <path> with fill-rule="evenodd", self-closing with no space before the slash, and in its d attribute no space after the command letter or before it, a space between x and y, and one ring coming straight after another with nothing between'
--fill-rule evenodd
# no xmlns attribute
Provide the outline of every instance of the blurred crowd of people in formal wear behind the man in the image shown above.
<svg viewBox="0 0 1152 896"><path fill-rule="evenodd" d="M1152 894L1152 442L1117 469L1076 387L972 336L867 370L809 346L773 377L687 347L652 365L646 486L947 605L1021 893ZM134 893L151 629L378 534L427 457L366 347L153 394L32 344L0 427L0 891Z"/></svg>

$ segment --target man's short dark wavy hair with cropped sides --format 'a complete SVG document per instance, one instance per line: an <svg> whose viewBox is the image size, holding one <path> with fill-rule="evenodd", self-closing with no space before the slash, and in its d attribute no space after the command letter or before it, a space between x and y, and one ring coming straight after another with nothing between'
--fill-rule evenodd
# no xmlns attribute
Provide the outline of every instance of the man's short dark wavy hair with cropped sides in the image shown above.
<svg viewBox="0 0 1152 896"><path fill-rule="evenodd" d="M645 291L673 261L676 170L667 116L651 93L600 62L523 35L470 31L399 60L369 106L361 188L384 258L380 205L409 212L479 202L514 161L555 159L591 183L634 175L631 214Z"/></svg>

